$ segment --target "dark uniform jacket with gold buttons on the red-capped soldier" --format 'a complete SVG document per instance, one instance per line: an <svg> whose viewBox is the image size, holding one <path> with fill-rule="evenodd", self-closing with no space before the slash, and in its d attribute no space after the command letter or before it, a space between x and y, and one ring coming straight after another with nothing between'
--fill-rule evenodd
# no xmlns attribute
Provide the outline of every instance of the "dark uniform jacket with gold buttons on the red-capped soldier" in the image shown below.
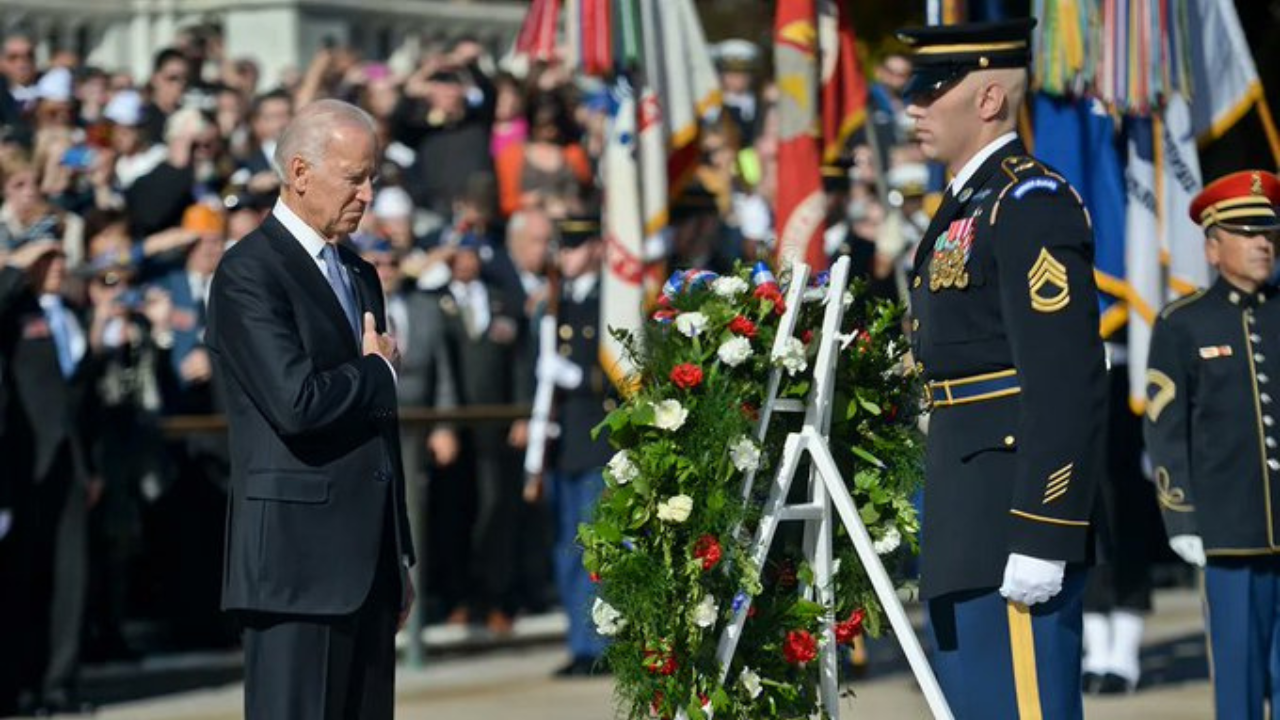
<svg viewBox="0 0 1280 720"><path fill-rule="evenodd" d="M1201 536L1210 557L1280 553L1275 295L1219 279L1165 307L1151 340L1146 436L1165 528Z"/></svg>

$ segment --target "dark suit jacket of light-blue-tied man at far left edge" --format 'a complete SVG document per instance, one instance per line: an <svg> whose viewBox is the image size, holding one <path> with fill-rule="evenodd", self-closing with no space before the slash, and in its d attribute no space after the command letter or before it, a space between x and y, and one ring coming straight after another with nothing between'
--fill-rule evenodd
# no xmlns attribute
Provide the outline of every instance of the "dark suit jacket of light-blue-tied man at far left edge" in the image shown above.
<svg viewBox="0 0 1280 720"><path fill-rule="evenodd" d="M73 313L70 307L67 311ZM86 357L76 374L63 377L52 333L26 274L0 268L0 395L6 397L0 457L5 475L38 483L54 460L69 451L78 479L87 479L81 420L90 365Z"/></svg>

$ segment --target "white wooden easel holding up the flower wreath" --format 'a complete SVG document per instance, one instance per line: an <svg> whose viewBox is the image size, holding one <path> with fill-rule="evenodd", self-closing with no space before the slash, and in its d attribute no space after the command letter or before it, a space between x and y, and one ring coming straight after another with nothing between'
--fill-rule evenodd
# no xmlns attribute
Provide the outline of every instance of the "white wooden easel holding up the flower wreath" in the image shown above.
<svg viewBox="0 0 1280 720"><path fill-rule="evenodd" d="M808 283L809 266L803 263L792 265L791 287L787 292L787 310L782 315L778 334L774 338L774 351L780 350L782 343L795 334L800 306L806 301L806 295L814 295L812 291L806 292ZM951 720L951 708L942 696L942 689L938 687L937 678L933 676L933 670L929 667L928 659L925 659L924 651L920 648L915 630L911 628L906 611L897 598L893 582L890 579L888 573L884 571L884 565L881 562L879 555L876 553L872 538L867 533L867 527L863 525L858 507L854 505L854 498L849 495L849 489L840 475L840 470L836 468L836 461L828 446L827 436L831 430L831 402L835 395L837 355L840 348L846 346L851 340L840 336L841 322L845 316L844 300L847 286L849 258L846 256L836 261L831 272L831 282L822 290L820 297L809 299L820 300L827 306L823 315L818 354L813 365L813 386L810 387L809 397L805 401L780 400L777 393L782 380L782 370L774 368L769 375L767 401L760 410L756 439L760 442L764 441L773 413L804 413L804 427L800 432L788 434L783 445L782 460L778 464L777 474L769 489L769 498L765 502L759 527L755 529L755 537L751 539L750 562L756 570L763 569L780 523L786 520L804 523L804 555L805 561L814 570L814 585L806 585L801 588L801 592L810 600L815 600L823 606L832 609L828 610L822 623L823 637L818 655L818 692L823 711L833 720L838 720L840 688L833 618L835 598L832 594L833 555L831 547L832 533L836 529L836 519L832 514L832 509L835 509L840 514L840 520L849 532L849 537L852 538L858 557L872 580L876 596L884 607L886 615L888 615L890 625L893 628L893 637L910 662L911 673L915 675L915 680L924 693L924 700L928 702L929 710L938 720ZM808 500L787 505L787 493L791 489L791 483L795 480L800 460L804 455L808 455L812 460ZM746 478L744 478L744 500L750 496L751 484L755 479L754 475L754 473L748 473ZM737 648L739 638L741 638L742 625L746 621L749 609L750 598L741 603L732 621L721 633L716 659L721 667L719 683L722 685L727 680L728 669L733 661L733 653ZM684 712L680 716L684 717Z"/></svg>

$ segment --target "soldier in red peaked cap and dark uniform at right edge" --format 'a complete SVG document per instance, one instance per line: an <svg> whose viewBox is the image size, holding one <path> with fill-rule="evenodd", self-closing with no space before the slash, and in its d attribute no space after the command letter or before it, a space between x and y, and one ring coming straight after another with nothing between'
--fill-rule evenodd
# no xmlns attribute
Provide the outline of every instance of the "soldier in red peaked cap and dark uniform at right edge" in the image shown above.
<svg viewBox="0 0 1280 720"><path fill-rule="evenodd" d="M1280 688L1280 181L1252 170L1192 201L1220 277L1171 302L1147 360L1146 437L1169 544L1204 568L1219 717L1258 719Z"/></svg>

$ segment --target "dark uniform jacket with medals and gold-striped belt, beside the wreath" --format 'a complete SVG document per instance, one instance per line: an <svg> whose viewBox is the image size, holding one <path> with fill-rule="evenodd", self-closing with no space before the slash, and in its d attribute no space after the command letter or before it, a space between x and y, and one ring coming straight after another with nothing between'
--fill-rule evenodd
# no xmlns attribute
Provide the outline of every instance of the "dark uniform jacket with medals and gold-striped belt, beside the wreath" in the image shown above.
<svg viewBox="0 0 1280 720"><path fill-rule="evenodd" d="M1020 142L946 192L911 278L933 406L924 597L998 587L1010 552L1088 560L1107 402L1096 297L1088 214Z"/></svg>

